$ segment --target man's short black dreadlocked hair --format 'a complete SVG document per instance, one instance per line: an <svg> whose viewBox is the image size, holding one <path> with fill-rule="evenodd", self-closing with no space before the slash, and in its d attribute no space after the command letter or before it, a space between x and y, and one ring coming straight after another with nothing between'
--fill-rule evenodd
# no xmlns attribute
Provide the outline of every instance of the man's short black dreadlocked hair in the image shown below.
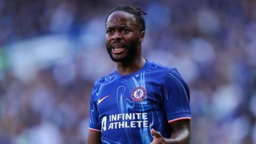
<svg viewBox="0 0 256 144"><path fill-rule="evenodd" d="M116 5L116 7L108 13L107 19L108 19L109 15L115 11L124 11L124 12L134 15L136 22L138 23L140 31L145 31L146 25L145 25L145 19L143 18L143 15L146 15L147 13L144 12L141 9L141 7L139 7L139 6L134 7L131 5ZM107 22L107 19L106 19L106 22Z"/></svg>

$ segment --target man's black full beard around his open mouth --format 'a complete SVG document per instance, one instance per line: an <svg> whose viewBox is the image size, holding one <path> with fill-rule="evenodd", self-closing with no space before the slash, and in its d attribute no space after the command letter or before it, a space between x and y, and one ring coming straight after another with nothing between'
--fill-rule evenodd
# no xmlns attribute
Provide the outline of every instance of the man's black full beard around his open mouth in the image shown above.
<svg viewBox="0 0 256 144"><path fill-rule="evenodd" d="M107 47L107 51L108 51L108 54L109 54L109 57L111 58L111 60L113 60L115 62L127 62L127 61L131 61L132 59L137 57L138 45L139 45L139 40L133 41L131 43L130 47L127 47L126 45L124 45L124 47L125 47L124 49L127 49L127 53L122 58L114 58L111 53L112 48L110 46L108 46L107 44L106 44L106 47Z"/></svg>

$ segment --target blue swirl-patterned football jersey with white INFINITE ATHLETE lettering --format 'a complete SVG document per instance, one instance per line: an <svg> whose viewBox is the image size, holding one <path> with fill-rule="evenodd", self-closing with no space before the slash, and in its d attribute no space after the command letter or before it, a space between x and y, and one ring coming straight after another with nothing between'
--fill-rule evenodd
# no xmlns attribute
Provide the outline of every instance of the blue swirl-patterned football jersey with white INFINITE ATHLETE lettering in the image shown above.
<svg viewBox="0 0 256 144"><path fill-rule="evenodd" d="M150 130L170 138L169 123L191 119L189 88L178 70L147 60L135 73L117 71L95 82L89 130L102 143L150 143Z"/></svg>

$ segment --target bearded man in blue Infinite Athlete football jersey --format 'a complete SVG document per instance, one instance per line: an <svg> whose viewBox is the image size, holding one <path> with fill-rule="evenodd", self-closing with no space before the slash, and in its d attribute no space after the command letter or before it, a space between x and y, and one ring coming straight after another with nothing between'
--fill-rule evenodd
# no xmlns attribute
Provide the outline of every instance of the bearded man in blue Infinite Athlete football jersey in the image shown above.
<svg viewBox="0 0 256 144"><path fill-rule="evenodd" d="M95 82L87 143L189 143L189 89L175 68L145 60L146 14L117 5L106 20L106 46L117 70Z"/></svg>

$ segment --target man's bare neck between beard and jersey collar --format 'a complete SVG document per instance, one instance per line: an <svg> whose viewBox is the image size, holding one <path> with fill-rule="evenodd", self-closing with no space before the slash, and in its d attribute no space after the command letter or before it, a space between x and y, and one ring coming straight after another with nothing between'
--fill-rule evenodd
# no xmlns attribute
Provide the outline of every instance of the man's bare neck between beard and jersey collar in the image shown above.
<svg viewBox="0 0 256 144"><path fill-rule="evenodd" d="M141 69L145 63L146 60L141 55L131 61L117 62L117 72L121 75L128 75Z"/></svg>

